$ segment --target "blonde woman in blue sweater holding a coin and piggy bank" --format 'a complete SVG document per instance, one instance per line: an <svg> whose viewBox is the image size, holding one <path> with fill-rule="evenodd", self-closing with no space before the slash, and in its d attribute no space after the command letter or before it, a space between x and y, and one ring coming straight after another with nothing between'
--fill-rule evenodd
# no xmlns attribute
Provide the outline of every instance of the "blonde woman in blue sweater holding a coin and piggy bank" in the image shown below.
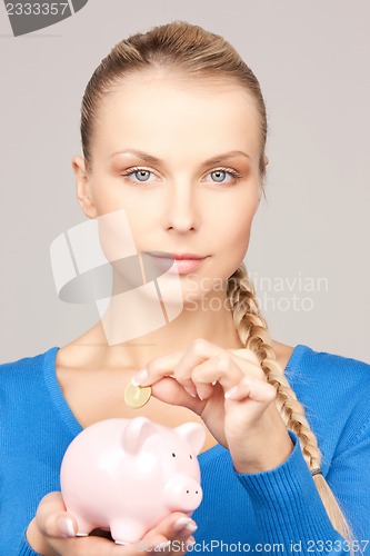
<svg viewBox="0 0 370 556"><path fill-rule="evenodd" d="M271 340L242 264L268 163L256 77L222 38L174 22L120 42L81 112L84 215L124 210L137 250L174 269L183 307L130 341L110 342L102 319L3 366L1 554L183 553L189 542L216 554L366 552L369 366ZM139 410L122 401L130 381L152 386ZM76 538L62 455L82 427L137 415L206 425L203 502L140 545Z"/></svg>

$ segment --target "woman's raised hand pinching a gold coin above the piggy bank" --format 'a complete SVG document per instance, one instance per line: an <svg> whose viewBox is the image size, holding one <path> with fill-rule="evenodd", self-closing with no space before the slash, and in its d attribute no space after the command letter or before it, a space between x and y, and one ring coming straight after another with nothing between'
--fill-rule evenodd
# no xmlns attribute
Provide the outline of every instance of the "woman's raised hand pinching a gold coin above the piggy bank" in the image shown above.
<svg viewBox="0 0 370 556"><path fill-rule="evenodd" d="M152 385L168 404L197 413L227 447L239 473L259 473L282 464L292 450L257 356L248 349L227 350L203 339L182 353L152 359L133 377Z"/></svg>

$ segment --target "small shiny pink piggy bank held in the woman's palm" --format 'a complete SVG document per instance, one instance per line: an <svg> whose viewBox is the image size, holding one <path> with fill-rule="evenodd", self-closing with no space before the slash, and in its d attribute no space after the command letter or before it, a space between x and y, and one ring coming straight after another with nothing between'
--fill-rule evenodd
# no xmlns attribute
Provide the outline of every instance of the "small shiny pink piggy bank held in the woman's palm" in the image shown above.
<svg viewBox="0 0 370 556"><path fill-rule="evenodd" d="M78 535L111 532L118 544L136 543L163 517L189 516L202 499L197 459L206 430L177 428L146 417L107 419L80 433L61 465L61 490Z"/></svg>

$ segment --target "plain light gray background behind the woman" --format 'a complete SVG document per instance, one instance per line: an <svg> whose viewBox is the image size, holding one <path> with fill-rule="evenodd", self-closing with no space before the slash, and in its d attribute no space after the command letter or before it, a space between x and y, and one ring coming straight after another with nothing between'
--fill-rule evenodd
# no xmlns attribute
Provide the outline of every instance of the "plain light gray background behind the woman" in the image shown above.
<svg viewBox="0 0 370 556"><path fill-rule="evenodd" d="M264 91L268 200L247 265L257 287L270 280L259 297L273 338L370 361L368 0L90 0L19 38L0 3L0 360L63 345L97 318L58 299L49 262L52 239L83 220L70 166L80 99L116 42L173 19L223 34Z"/></svg>

